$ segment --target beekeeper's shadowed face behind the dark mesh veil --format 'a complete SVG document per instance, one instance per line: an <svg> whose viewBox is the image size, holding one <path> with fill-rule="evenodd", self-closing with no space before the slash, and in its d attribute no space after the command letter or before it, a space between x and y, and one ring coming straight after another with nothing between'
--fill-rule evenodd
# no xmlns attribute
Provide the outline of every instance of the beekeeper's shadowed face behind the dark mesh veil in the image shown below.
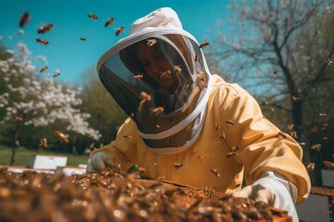
<svg viewBox="0 0 334 222"><path fill-rule="evenodd" d="M138 42L135 45L137 57L142 63L146 73L156 80L163 87L171 87L174 85L176 76L173 66L163 55L156 45L149 47L147 41ZM168 74L168 70L171 72ZM164 73L164 74L163 74Z"/></svg>

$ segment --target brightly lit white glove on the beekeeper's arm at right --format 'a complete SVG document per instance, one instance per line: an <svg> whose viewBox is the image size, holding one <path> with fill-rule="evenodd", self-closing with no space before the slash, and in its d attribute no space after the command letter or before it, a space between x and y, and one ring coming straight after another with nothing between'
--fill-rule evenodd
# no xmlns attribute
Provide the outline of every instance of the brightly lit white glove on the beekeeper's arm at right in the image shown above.
<svg viewBox="0 0 334 222"><path fill-rule="evenodd" d="M279 173L271 171L264 173L252 185L233 193L233 197L266 202L273 207L287 211L287 214L292 216L292 221L299 221L294 204L297 199L297 187Z"/></svg>

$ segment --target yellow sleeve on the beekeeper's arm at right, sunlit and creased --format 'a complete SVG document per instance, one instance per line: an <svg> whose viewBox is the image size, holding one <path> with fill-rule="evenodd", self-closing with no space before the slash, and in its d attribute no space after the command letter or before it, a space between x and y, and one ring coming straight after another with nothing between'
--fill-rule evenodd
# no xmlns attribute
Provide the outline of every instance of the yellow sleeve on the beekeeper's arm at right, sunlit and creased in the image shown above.
<svg viewBox="0 0 334 222"><path fill-rule="evenodd" d="M240 87L241 89L241 87ZM221 126L229 147L240 146L235 161L245 169L247 185L266 171L275 171L290 180L298 190L297 204L306 199L311 182L302 164L302 147L262 114L259 104L245 90L230 93L221 110ZM229 125L226 121L235 123Z"/></svg>

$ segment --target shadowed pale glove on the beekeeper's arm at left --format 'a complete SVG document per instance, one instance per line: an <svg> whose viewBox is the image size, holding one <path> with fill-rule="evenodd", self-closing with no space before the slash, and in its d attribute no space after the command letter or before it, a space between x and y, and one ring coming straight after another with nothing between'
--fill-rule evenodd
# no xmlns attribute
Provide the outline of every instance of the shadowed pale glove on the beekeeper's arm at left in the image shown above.
<svg viewBox="0 0 334 222"><path fill-rule="evenodd" d="M104 171L107 166L113 167L115 164L113 164L108 154L105 152L97 152L89 158L86 172L101 172Z"/></svg>

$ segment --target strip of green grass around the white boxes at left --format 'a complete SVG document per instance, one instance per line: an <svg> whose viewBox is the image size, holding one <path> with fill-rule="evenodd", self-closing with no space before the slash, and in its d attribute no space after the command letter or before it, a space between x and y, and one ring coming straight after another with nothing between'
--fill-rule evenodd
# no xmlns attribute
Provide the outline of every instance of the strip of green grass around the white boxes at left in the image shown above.
<svg viewBox="0 0 334 222"><path fill-rule="evenodd" d="M74 155L68 153L56 153L51 150L32 150L25 147L18 147L16 149L15 162L13 166L27 166L30 156L34 154L51 155L51 156L67 156L68 166L78 166L78 164L87 164L88 155ZM0 144L0 165L7 166L11 161L11 147L6 147Z"/></svg>

